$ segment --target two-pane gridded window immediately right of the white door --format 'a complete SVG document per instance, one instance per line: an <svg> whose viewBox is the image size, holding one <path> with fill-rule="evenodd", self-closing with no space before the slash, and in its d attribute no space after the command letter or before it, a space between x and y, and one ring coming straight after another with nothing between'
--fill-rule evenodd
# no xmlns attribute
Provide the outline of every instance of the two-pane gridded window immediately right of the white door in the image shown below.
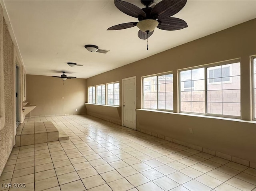
<svg viewBox="0 0 256 191"><path fill-rule="evenodd" d="M143 78L143 108L173 110L173 75Z"/></svg>

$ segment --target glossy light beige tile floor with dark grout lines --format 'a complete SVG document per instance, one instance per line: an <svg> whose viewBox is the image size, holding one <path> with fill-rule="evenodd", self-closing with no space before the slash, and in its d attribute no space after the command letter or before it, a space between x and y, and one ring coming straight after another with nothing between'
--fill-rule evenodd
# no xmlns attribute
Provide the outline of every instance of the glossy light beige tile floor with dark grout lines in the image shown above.
<svg viewBox="0 0 256 191"><path fill-rule="evenodd" d="M9 191L256 191L256 169L87 115L52 121L70 140L13 148ZM22 186L22 185L21 185ZM8 190L1 188L1 190Z"/></svg>

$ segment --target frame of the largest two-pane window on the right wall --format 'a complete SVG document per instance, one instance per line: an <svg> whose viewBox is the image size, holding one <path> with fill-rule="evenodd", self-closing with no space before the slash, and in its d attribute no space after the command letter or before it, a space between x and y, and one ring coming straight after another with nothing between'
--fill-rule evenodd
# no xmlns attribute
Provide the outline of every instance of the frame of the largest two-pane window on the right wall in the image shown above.
<svg viewBox="0 0 256 191"><path fill-rule="evenodd" d="M232 115L223 115L223 114L210 114L207 113L207 68L209 67L214 67L214 66L220 66L220 65L228 65L228 64L234 64L234 63L240 63L240 111L241 111L241 61L240 59L233 59L233 60L229 60L229 61L221 61L218 63L212 63L212 64L208 64L208 65L201 65L201 66L197 66L197 67L191 67L191 68L186 68L186 69L180 69L178 70L178 77L179 77L179 86L180 86L180 72L181 71L187 71L187 70L193 70L193 69L199 69L199 68L204 68L204 103L205 103L205 113L195 113L195 112L183 112L180 111L181 109L181 93L179 90L179 112L180 113L188 113L188 114L195 114L195 115L205 115L205 116L215 116L215 117L224 117L224 118L236 118L236 119L241 119L241 112L240 112L240 116L232 116ZM232 75L231 72L231 67L230 67L230 75ZM231 76L232 77L232 76ZM230 80L232 81L232 80ZM227 81L226 83L229 83L230 81ZM214 82L214 83L210 83L212 84L218 84L219 82Z"/></svg>

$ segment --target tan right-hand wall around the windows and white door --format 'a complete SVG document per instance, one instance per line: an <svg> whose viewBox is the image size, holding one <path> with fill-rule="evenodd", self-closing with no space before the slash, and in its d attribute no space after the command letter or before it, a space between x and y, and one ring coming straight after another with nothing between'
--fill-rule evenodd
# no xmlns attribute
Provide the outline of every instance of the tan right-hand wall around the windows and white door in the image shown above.
<svg viewBox="0 0 256 191"><path fill-rule="evenodd" d="M251 120L250 55L256 55L255 34L256 19L96 75L87 79L87 85L120 81L121 90L123 78L136 76L137 108L142 108L141 77L173 71L174 112L178 112L178 69L240 58L241 114L243 120ZM120 104L122 104L122 91L120 91ZM122 110L120 110L120 114L122 114ZM177 117L177 114L138 111L137 128L224 152L238 158L256 161L256 124L182 114ZM196 131L194 134L188 134L188 128L193 128Z"/></svg>

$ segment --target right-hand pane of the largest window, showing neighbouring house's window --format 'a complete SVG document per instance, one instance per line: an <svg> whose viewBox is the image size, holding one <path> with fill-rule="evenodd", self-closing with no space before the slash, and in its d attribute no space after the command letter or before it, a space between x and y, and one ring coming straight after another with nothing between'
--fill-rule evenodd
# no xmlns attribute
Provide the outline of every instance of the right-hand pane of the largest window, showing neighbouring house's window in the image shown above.
<svg viewBox="0 0 256 191"><path fill-rule="evenodd" d="M207 68L207 113L240 116L240 63Z"/></svg>

